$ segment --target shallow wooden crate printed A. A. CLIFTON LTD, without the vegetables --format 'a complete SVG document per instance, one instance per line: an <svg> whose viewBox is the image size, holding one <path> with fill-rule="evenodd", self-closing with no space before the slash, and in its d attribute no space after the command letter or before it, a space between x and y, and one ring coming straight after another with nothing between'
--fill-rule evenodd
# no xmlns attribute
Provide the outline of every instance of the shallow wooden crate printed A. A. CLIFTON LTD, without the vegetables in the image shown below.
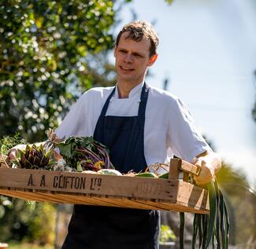
<svg viewBox="0 0 256 249"><path fill-rule="evenodd" d="M184 180L178 179L179 170ZM197 168L171 161L169 179L0 168L0 194L23 200L206 214L206 189L186 182Z"/></svg>

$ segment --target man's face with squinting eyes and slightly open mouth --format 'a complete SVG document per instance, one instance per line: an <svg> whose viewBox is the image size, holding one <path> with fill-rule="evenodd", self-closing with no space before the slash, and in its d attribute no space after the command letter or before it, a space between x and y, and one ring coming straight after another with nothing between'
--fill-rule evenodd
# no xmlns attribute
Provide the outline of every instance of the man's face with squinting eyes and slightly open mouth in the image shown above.
<svg viewBox="0 0 256 249"><path fill-rule="evenodd" d="M125 39L128 32L121 35L118 46L114 49L118 82L139 84L143 81L147 67L154 64L157 55L150 57L150 41L143 38L136 42L131 38Z"/></svg>

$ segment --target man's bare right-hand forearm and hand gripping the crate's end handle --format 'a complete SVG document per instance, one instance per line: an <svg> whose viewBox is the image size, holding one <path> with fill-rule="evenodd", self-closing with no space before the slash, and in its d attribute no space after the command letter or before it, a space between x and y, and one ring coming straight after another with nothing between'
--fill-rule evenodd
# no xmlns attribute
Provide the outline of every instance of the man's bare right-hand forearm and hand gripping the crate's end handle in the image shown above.
<svg viewBox="0 0 256 249"><path fill-rule="evenodd" d="M191 163L201 168L198 176L194 176L197 185L204 185L212 181L217 171L221 169L221 157L211 151L196 156Z"/></svg>

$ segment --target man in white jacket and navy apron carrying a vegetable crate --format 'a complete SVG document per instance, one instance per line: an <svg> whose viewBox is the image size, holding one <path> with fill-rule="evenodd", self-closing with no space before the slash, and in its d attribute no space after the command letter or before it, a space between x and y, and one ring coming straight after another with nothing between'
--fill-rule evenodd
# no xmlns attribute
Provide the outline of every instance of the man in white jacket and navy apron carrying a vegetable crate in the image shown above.
<svg viewBox="0 0 256 249"><path fill-rule="evenodd" d="M117 85L83 93L58 137L93 136L110 151L117 170L145 170L173 154L201 167L198 185L214 178L221 159L198 133L184 104L147 86L147 68L158 58L153 27L139 20L125 25L114 48ZM75 205L62 249L158 248L159 212Z"/></svg>

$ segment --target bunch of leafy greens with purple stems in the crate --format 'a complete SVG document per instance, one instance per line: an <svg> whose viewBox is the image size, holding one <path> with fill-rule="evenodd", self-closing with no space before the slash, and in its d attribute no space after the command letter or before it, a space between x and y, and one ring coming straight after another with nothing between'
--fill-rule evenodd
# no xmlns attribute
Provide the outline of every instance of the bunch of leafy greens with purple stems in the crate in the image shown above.
<svg viewBox="0 0 256 249"><path fill-rule="evenodd" d="M60 149L67 166L73 170L82 172L113 169L108 149L93 137L69 137L56 146Z"/></svg>

